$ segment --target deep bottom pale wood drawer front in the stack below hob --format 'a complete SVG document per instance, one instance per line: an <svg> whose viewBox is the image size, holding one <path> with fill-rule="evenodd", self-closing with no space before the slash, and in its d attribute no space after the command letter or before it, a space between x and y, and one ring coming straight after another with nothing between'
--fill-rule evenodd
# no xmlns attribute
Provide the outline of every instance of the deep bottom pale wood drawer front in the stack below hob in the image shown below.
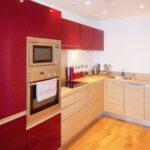
<svg viewBox="0 0 150 150"><path fill-rule="evenodd" d="M62 145L73 138L79 133L87 124L91 121L91 109L90 105L81 110L79 113L72 117L62 121L61 132L62 132Z"/></svg>

